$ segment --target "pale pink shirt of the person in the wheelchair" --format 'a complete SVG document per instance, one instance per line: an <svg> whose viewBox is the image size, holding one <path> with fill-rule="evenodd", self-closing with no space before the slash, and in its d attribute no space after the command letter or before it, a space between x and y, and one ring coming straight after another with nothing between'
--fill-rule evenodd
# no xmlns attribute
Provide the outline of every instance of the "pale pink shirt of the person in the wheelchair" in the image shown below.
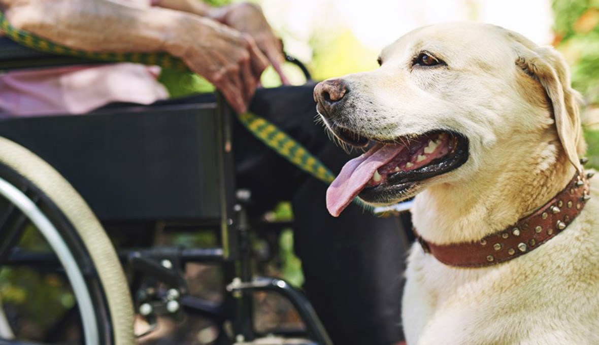
<svg viewBox="0 0 599 345"><path fill-rule="evenodd" d="M150 0L122 0L148 7ZM0 113L82 114L110 102L150 104L168 98L160 68L135 63L28 69L0 75Z"/></svg>

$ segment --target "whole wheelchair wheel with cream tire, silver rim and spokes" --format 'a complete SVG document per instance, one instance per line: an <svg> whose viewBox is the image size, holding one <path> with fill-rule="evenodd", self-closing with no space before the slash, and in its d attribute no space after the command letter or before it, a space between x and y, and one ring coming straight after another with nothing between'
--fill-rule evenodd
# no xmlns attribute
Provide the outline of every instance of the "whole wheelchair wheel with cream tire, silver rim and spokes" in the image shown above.
<svg viewBox="0 0 599 345"><path fill-rule="evenodd" d="M0 138L0 344L133 344L133 318L119 259L83 198Z"/></svg>

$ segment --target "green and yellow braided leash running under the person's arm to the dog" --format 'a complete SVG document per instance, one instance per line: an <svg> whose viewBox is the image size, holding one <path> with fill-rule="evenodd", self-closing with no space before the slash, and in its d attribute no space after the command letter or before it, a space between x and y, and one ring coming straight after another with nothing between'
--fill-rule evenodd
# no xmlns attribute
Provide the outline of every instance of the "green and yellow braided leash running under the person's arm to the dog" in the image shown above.
<svg viewBox="0 0 599 345"><path fill-rule="evenodd" d="M4 17L3 13L0 13L0 30L16 43L41 52L108 62L136 62L143 63L144 65L158 65L167 69L189 71L189 68L187 68L183 61L167 53L96 53L61 46L60 44L32 35L29 32L14 28ZM334 180L335 175L319 159L315 158L301 144L289 137L288 134L281 131L273 123L252 113L238 114L237 117L256 138L301 170L325 183L331 183Z"/></svg>

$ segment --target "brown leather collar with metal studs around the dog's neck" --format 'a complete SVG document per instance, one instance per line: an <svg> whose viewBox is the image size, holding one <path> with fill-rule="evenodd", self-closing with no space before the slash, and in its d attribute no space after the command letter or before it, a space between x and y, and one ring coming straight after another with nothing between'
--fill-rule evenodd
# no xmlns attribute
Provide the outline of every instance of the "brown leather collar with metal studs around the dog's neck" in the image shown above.
<svg viewBox="0 0 599 345"><path fill-rule="evenodd" d="M486 267L524 255L555 237L578 216L589 196L588 175L576 174L568 185L537 211L503 231L476 243L438 245L424 240L414 230L425 253L443 264L457 267Z"/></svg>

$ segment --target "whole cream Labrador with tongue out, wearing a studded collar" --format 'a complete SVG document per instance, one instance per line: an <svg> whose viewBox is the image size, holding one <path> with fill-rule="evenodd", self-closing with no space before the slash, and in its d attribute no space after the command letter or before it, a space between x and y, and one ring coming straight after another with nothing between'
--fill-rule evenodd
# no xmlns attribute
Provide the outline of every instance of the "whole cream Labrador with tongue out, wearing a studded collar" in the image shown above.
<svg viewBox="0 0 599 345"><path fill-rule="evenodd" d="M333 216L356 196L416 195L407 344L599 344L599 190L562 56L445 23L379 64L322 81L314 99L337 140L368 149L329 187Z"/></svg>

